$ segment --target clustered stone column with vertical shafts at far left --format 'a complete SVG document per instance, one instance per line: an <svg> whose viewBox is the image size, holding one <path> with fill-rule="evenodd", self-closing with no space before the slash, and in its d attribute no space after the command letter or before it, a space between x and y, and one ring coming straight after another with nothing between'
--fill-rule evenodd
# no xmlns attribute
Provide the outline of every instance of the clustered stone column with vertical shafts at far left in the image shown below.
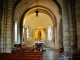
<svg viewBox="0 0 80 60"><path fill-rule="evenodd" d="M3 0L1 22L1 53L10 53L13 47L12 7L13 0Z"/></svg>

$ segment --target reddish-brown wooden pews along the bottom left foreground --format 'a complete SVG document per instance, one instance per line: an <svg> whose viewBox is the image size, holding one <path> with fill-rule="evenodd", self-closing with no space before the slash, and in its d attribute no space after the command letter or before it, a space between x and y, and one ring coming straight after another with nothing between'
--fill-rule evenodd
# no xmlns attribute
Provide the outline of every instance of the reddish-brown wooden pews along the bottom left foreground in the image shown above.
<svg viewBox="0 0 80 60"><path fill-rule="evenodd" d="M41 60L42 52L2 53L0 60Z"/></svg>

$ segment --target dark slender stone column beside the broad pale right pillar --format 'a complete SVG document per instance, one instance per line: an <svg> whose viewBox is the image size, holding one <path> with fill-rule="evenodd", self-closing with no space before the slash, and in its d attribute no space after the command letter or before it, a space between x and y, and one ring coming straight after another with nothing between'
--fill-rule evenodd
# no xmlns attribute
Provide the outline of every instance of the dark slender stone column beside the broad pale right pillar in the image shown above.
<svg viewBox="0 0 80 60"><path fill-rule="evenodd" d="M70 33L70 41L71 41L71 53L76 52L76 41L75 41L75 23L74 23L74 1L68 0L68 16L69 16L69 33Z"/></svg>

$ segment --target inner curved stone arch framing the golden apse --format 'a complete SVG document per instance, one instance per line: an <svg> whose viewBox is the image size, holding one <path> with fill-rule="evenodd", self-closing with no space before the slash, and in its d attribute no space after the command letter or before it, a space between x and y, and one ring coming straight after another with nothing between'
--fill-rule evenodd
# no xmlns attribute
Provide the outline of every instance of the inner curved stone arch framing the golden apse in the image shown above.
<svg viewBox="0 0 80 60"><path fill-rule="evenodd" d="M21 17L21 20L20 20L20 29L21 29L21 31L22 31L22 27L23 27L23 20L24 20L24 16L27 14L27 15L29 15L29 12L30 12L30 14L31 14L31 12L32 13L34 13L33 11L35 11L36 10L36 7L37 6L33 6L33 7L31 7L31 8L29 8L29 9L27 9L24 13L23 13L23 15L22 15L22 17ZM40 9L40 8L42 8L42 9ZM50 10L50 9L48 9L47 7L43 7L43 6L38 6L38 9L40 10L40 13L45 13L45 14L47 14L50 18L51 18L51 20L52 20L52 22L53 22L53 26L52 27L57 27L57 21L56 21L56 17L55 17L55 15L54 15L54 13ZM31 11L32 10L32 11ZM46 13L46 12L47 13ZM22 32L21 32L21 35L22 35Z"/></svg>

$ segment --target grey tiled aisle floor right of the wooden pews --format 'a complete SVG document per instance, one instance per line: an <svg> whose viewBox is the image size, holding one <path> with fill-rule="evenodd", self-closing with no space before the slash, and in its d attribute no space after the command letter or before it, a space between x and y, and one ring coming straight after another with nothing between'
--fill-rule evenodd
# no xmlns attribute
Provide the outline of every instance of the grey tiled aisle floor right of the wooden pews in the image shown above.
<svg viewBox="0 0 80 60"><path fill-rule="evenodd" d="M60 56L56 50L46 48L42 60L64 60L64 58L63 56Z"/></svg>

